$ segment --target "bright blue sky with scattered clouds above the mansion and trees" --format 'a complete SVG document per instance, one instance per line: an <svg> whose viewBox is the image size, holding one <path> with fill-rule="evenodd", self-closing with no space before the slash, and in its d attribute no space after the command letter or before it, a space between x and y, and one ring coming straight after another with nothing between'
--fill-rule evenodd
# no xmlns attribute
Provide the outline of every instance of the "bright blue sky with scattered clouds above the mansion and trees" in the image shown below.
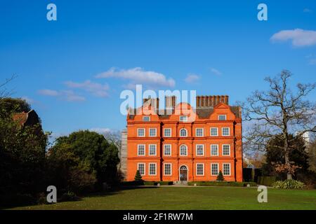
<svg viewBox="0 0 316 224"><path fill-rule="evenodd" d="M46 20L48 3L57 21ZM316 80L315 1L5 0L0 27L1 80L18 75L13 97L55 136L123 129L119 94L135 84L236 102L282 69L292 83Z"/></svg>

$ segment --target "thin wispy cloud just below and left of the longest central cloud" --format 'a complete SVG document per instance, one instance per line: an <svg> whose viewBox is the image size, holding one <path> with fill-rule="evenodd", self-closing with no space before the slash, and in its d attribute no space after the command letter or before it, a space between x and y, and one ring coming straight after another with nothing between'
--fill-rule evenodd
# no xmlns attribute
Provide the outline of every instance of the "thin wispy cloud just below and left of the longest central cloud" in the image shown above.
<svg viewBox="0 0 316 224"><path fill-rule="evenodd" d="M91 80L86 80L83 83L75 83L72 81L65 82L65 85L70 88L77 88L84 90L86 92L90 92L91 94L95 95L96 97L107 97L108 90L110 89L109 85L105 84L102 85L100 83L93 83Z"/></svg>

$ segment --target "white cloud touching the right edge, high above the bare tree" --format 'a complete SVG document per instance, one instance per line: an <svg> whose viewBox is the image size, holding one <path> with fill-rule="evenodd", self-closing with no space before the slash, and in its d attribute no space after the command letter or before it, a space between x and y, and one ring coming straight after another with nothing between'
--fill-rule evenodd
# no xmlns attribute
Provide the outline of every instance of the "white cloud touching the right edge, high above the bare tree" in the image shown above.
<svg viewBox="0 0 316 224"><path fill-rule="evenodd" d="M316 31L304 29L288 29L273 34L270 38L275 41L289 41L296 47L304 47L316 44Z"/></svg>

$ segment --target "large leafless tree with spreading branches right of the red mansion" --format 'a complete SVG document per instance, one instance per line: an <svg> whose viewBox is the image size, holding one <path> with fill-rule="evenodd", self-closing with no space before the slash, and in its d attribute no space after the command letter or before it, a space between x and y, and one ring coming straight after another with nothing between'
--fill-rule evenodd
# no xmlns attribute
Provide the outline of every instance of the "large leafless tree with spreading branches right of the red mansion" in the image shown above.
<svg viewBox="0 0 316 224"><path fill-rule="evenodd" d="M271 146L272 137L284 142L284 146L274 146L284 150L283 165L287 179L292 179L295 165L289 160L291 141L289 134L302 137L305 132L316 132L316 104L305 99L312 90L313 84L296 85L294 93L289 87L292 74L283 70L275 78L265 78L269 90L254 92L247 102L242 104L244 120L251 122L251 127L244 133L244 147L256 151L265 151Z"/></svg>

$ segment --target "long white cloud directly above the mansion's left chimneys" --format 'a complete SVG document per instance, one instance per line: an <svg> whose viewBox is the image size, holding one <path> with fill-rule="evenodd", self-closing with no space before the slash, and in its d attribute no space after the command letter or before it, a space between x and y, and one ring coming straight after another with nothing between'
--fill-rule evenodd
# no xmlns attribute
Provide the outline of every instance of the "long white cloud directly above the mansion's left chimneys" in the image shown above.
<svg viewBox="0 0 316 224"><path fill-rule="evenodd" d="M174 87L176 85L173 78L166 78L164 74L156 71L145 71L140 67L133 69L116 69L111 68L108 71L100 73L96 78L123 78L124 80L131 80L130 84L145 84L151 87L166 86Z"/></svg>

